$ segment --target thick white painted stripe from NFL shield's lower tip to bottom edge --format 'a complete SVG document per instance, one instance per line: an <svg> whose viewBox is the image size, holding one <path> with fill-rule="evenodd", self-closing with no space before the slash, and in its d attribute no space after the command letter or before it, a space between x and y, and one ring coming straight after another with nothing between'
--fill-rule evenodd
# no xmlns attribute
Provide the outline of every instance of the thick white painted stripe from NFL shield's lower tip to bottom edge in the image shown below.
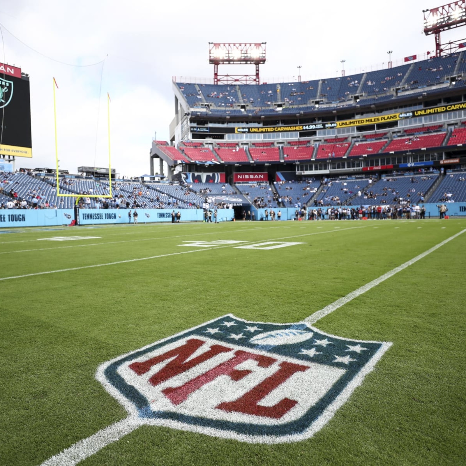
<svg viewBox="0 0 466 466"><path fill-rule="evenodd" d="M115 424L80 440L66 450L45 460L41 466L75 466L88 456L97 453L106 445L116 442L126 434L134 431L141 425L141 421L134 417L124 418Z"/></svg>

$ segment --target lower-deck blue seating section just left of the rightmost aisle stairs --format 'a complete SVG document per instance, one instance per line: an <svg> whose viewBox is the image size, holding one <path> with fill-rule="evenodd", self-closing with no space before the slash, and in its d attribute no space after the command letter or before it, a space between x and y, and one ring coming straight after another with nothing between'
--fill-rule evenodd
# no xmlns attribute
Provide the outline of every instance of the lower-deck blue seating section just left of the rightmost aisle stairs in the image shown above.
<svg viewBox="0 0 466 466"><path fill-rule="evenodd" d="M351 202L362 206L394 205L400 202L418 204L421 202L421 196L425 195L438 176L438 174L426 173L425 175L382 178L368 185L362 196Z"/></svg>

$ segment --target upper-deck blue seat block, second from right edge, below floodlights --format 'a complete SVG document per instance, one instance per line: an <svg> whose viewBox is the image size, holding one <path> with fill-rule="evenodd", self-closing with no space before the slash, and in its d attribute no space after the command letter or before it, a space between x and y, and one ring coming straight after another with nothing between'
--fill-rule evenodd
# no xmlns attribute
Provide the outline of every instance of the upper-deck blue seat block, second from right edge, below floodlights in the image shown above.
<svg viewBox="0 0 466 466"><path fill-rule="evenodd" d="M419 87L444 82L454 72L458 55L432 57L424 62L414 63L405 83L408 87Z"/></svg>

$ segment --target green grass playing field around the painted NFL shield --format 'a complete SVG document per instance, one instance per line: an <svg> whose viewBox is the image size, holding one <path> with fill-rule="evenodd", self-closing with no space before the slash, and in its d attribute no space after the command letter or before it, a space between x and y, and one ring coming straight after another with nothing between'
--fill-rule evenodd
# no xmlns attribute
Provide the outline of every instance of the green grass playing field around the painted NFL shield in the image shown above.
<svg viewBox="0 0 466 466"><path fill-rule="evenodd" d="M40 465L127 416L96 380L100 364L228 313L302 321L464 229L466 219L436 219L0 234L0 465ZM57 236L97 238L47 240ZM184 246L218 240L243 243ZM267 241L301 244L237 248ZM250 444L144 425L80 464L466 464L465 249L466 233L315 322L393 345L310 439Z"/></svg>

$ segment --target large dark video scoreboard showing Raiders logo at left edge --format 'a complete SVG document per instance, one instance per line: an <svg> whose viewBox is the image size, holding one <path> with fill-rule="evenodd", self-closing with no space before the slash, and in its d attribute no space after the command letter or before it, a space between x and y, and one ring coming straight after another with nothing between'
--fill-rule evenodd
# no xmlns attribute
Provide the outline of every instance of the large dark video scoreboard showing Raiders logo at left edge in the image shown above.
<svg viewBox="0 0 466 466"><path fill-rule="evenodd" d="M0 63L0 130L0 155L32 157L29 78L21 76L21 68L3 63Z"/></svg>

